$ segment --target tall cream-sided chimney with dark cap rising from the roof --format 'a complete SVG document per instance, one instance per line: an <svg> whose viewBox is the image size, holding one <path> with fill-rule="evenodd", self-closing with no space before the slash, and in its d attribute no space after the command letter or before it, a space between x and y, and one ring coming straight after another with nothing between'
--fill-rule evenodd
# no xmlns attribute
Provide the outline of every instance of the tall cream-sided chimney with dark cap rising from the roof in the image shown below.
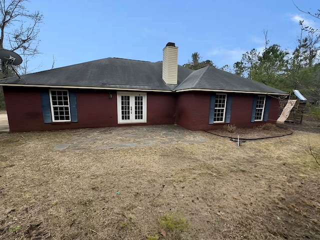
<svg viewBox="0 0 320 240"><path fill-rule="evenodd" d="M163 48L162 78L167 84L177 84L178 48L174 42L166 43Z"/></svg>

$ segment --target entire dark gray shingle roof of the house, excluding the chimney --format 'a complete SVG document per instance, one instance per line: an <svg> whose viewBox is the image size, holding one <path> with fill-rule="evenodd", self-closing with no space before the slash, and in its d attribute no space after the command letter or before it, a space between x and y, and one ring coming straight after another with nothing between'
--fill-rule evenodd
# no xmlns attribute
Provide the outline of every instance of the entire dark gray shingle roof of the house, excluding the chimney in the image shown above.
<svg viewBox="0 0 320 240"><path fill-rule="evenodd" d="M178 65L178 84L162 79L162 61L104 58L0 80L0 85L140 89L155 91L211 89L285 94L278 89L214 67L191 70Z"/></svg>

